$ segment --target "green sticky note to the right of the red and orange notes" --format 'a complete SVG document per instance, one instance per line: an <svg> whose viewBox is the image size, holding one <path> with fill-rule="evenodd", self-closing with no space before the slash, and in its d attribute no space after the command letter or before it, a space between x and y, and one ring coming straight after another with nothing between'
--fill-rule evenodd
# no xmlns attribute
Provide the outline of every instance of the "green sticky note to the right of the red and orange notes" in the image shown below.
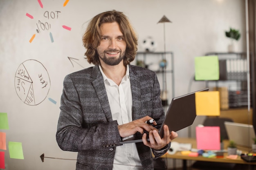
<svg viewBox="0 0 256 170"><path fill-rule="evenodd" d="M9 141L8 148L9 148L10 158L24 159L21 142L11 142L11 141Z"/></svg>

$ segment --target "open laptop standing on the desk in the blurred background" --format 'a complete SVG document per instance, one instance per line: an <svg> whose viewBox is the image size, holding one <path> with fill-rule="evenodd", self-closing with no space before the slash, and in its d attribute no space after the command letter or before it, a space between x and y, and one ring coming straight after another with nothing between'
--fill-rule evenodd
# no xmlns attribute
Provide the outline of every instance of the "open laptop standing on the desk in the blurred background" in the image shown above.
<svg viewBox="0 0 256 170"><path fill-rule="evenodd" d="M234 141L238 146L251 148L254 143L255 132L253 125L240 124L235 122L225 121L225 128L229 140Z"/></svg>

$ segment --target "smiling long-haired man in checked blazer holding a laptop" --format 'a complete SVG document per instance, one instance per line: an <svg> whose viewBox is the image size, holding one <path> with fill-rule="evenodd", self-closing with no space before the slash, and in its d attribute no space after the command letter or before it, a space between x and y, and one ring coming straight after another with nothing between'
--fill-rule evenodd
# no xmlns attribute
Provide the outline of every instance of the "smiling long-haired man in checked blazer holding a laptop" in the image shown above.
<svg viewBox="0 0 256 170"><path fill-rule="evenodd" d="M153 170L153 157L170 148L177 133L155 125L164 110L155 72L130 65L137 36L118 11L96 15L83 35L85 55L95 66L67 75L63 83L56 140L62 150L78 152L76 170ZM145 123L155 119L153 125ZM136 132L143 142L120 144ZM150 149L151 148L151 149Z"/></svg>

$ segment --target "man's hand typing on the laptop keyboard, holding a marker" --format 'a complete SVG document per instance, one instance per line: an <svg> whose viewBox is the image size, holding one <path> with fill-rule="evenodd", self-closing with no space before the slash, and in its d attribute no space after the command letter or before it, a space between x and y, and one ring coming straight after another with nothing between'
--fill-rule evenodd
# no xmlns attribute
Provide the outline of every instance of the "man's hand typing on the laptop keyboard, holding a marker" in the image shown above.
<svg viewBox="0 0 256 170"><path fill-rule="evenodd" d="M149 116L145 116L145 117L142 117L141 119L131 121L127 124L118 125L120 136L128 137L130 135L134 135L137 132L140 132L142 134L144 130L148 132L152 130L156 130L156 128L154 128L150 124L145 123L145 121L148 121L150 119L152 118ZM153 125L157 125L156 121L153 122Z"/></svg>

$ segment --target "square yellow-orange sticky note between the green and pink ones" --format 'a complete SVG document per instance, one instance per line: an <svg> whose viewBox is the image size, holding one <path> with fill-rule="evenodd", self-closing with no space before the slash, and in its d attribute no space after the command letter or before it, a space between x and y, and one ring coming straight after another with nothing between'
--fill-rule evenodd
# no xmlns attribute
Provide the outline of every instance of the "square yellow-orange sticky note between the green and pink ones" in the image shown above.
<svg viewBox="0 0 256 170"><path fill-rule="evenodd" d="M220 92L201 91L195 93L195 111L200 116L220 115Z"/></svg>

